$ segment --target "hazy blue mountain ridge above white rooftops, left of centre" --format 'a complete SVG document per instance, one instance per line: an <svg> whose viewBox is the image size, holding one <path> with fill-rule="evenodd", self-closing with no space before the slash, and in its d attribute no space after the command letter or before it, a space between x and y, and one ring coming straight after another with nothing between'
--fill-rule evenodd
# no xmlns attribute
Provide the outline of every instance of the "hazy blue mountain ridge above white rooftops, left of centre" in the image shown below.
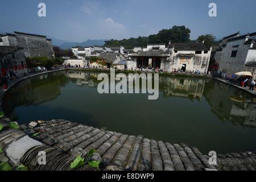
<svg viewBox="0 0 256 182"><path fill-rule="evenodd" d="M105 39L100 39L100 40L86 40L85 42L65 42L61 44L59 47L63 49L68 49L72 48L75 46L81 46L81 47L86 47L86 46L103 46L105 44ZM53 44L54 45L54 44Z"/></svg>

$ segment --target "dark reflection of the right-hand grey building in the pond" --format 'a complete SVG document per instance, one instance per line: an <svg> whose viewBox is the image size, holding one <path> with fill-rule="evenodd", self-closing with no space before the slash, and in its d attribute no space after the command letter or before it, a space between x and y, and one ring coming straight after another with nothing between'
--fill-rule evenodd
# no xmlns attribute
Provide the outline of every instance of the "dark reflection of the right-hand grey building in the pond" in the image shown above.
<svg viewBox="0 0 256 182"><path fill-rule="evenodd" d="M214 80L205 84L204 96L222 122L256 127L256 97Z"/></svg>

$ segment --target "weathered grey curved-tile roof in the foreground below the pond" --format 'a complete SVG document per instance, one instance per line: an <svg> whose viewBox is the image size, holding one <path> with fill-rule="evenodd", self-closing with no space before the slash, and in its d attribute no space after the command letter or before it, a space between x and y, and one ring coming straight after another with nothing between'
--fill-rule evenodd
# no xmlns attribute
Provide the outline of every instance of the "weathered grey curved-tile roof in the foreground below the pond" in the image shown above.
<svg viewBox="0 0 256 182"><path fill-rule="evenodd" d="M8 123L2 122L4 127ZM6 148L14 141L28 135L41 142L22 156L21 162L31 170L70 170L77 155L85 156L94 148L92 160L102 162L106 170L255 170L256 154L253 152L218 155L217 165L210 165L209 157L196 147L187 144L171 144L147 139L141 135L125 135L73 123L65 120L38 121L36 126L9 129L0 133L0 146ZM33 134L39 133L36 137ZM38 152L45 151L47 164L38 164ZM82 166L77 170L92 170Z"/></svg>

